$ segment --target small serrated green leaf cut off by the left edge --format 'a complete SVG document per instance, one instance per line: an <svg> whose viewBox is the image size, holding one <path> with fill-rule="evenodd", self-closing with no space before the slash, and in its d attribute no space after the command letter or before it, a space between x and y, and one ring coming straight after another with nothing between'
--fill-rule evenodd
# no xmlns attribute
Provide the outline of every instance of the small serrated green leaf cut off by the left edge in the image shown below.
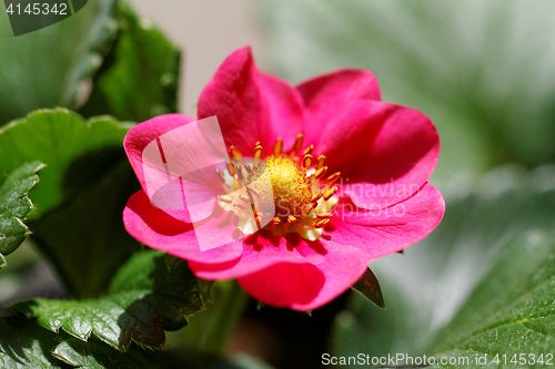
<svg viewBox="0 0 555 369"><path fill-rule="evenodd" d="M11 254L30 234L23 224L33 207L27 194L39 182L36 173L43 166L40 162L26 163L0 185L0 269L6 265L3 255Z"/></svg>

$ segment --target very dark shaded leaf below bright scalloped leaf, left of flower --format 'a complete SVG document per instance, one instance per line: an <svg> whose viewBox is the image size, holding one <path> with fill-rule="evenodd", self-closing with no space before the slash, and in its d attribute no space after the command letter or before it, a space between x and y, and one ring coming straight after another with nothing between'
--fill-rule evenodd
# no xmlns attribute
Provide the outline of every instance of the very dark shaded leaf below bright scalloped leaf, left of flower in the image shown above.
<svg viewBox="0 0 555 369"><path fill-rule="evenodd" d="M113 156L111 150L108 152L111 155L107 157ZM94 173L92 167L102 163L94 162L98 154L94 152L92 157L79 161L83 166L78 167L81 171L87 168L85 174ZM87 165L89 162L91 165ZM125 202L138 191L138 182L127 160L119 160L115 164L95 186L39 221L29 222L32 238L53 262L75 298L105 293L115 270L139 249L139 243L125 232L122 221ZM71 173L67 174L69 178L79 177Z"/></svg>

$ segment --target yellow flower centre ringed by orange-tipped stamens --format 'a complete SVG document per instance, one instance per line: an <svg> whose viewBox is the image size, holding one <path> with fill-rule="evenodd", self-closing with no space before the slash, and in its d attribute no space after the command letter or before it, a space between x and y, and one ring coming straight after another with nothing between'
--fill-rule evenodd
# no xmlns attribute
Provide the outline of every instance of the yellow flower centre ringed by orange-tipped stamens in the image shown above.
<svg viewBox="0 0 555 369"><path fill-rule="evenodd" d="M314 146L301 150L302 143L303 134L299 134L287 152L283 150L282 139L278 139L273 147L262 147L256 142L253 163L246 163L235 146L230 147L230 157L235 164L230 162L226 171L215 173L228 193L219 196L219 203L235 214L244 234L266 229L281 236L297 233L314 240L332 221L333 206L337 203L334 184L341 173L325 177L326 157L315 158ZM246 195L233 195L242 187L246 188ZM269 209L274 209L273 214Z"/></svg>

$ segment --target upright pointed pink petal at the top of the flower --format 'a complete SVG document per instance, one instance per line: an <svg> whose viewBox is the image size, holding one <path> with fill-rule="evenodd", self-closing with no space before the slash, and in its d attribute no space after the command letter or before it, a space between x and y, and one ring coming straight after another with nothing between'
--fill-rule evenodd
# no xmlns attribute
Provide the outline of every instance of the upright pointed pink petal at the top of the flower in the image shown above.
<svg viewBox="0 0 555 369"><path fill-rule="evenodd" d="M302 98L287 82L259 72L249 48L231 54L199 99L199 119L216 115L228 148L251 156L256 141L265 153L275 139L293 145L303 122Z"/></svg>

